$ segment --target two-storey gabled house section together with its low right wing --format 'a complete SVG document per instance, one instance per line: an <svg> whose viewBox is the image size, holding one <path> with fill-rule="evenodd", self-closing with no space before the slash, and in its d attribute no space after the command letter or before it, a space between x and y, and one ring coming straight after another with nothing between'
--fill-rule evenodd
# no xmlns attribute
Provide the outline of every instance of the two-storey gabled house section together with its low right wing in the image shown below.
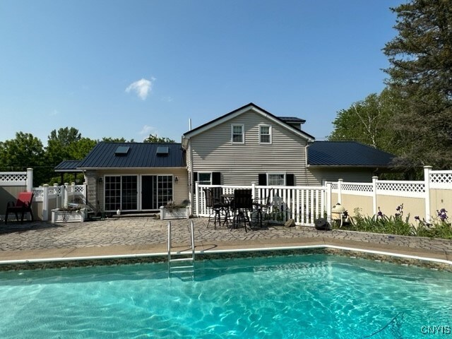
<svg viewBox="0 0 452 339"><path fill-rule="evenodd" d="M314 141L303 119L249 103L182 136L193 192L203 184L312 186L339 178L370 182L393 155L355 142Z"/></svg>

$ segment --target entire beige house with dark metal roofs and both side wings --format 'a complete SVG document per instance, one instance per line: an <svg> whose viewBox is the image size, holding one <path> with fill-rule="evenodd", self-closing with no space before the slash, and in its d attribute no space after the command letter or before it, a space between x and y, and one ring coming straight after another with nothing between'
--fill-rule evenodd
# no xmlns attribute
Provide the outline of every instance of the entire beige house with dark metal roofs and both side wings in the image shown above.
<svg viewBox="0 0 452 339"><path fill-rule="evenodd" d="M106 212L157 210L194 201L194 183L319 186L325 180L371 182L393 155L355 142L315 141L304 119L276 117L249 103L187 131L182 143L105 143L81 162L88 202Z"/></svg>

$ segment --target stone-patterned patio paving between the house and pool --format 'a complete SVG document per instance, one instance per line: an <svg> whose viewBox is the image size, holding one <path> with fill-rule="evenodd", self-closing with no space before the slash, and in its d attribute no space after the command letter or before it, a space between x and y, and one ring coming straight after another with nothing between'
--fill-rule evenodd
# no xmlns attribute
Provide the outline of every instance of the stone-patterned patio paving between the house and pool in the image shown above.
<svg viewBox="0 0 452 339"><path fill-rule="evenodd" d="M199 251L281 246L331 245L355 249L439 258L452 261L452 240L401 237L345 230L318 231L311 227L270 225L245 232L191 219ZM189 244L189 222L172 220L174 246ZM107 256L165 253L167 221L152 217L111 218L90 222L24 222L0 225L0 261L69 256Z"/></svg>

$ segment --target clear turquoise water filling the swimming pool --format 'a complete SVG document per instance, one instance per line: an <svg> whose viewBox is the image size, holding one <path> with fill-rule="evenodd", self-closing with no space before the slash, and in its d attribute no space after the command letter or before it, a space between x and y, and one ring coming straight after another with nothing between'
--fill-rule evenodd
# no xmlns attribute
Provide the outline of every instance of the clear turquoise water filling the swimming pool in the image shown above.
<svg viewBox="0 0 452 339"><path fill-rule="evenodd" d="M342 256L0 273L0 338L452 338L452 274Z"/></svg>

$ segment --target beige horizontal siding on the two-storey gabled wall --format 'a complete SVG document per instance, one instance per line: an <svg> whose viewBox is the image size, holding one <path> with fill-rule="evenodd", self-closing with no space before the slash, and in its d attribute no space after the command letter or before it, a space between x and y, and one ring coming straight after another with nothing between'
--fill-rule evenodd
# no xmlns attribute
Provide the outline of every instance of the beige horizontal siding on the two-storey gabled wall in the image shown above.
<svg viewBox="0 0 452 339"><path fill-rule="evenodd" d="M244 143L231 142L231 125L244 125ZM272 126L272 143L259 144L259 124ZM297 134L249 111L191 138L194 172L221 172L222 184L258 182L259 173L295 174L304 184L305 146Z"/></svg>

